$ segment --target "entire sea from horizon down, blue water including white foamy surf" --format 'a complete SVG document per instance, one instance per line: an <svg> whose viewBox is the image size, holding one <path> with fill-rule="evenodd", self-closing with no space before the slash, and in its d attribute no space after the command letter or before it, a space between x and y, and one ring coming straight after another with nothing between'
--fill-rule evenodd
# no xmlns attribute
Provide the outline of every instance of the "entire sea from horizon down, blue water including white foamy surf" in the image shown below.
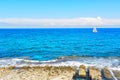
<svg viewBox="0 0 120 80"><path fill-rule="evenodd" d="M0 67L107 66L120 70L120 28L0 29Z"/></svg>

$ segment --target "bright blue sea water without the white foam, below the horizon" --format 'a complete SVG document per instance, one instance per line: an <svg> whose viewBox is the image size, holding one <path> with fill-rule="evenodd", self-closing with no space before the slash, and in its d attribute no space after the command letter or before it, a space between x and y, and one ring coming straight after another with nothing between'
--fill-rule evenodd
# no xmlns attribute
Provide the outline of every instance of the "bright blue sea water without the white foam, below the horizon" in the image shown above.
<svg viewBox="0 0 120 80"><path fill-rule="evenodd" d="M120 59L120 28L97 30L97 33L93 33L92 28L0 29L0 59Z"/></svg>

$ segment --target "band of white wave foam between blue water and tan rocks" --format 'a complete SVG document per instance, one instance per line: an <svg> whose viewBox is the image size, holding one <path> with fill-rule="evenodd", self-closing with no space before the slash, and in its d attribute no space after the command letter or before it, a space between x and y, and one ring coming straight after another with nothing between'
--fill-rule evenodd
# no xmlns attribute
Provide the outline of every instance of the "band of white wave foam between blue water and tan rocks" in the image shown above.
<svg viewBox="0 0 120 80"><path fill-rule="evenodd" d="M63 60L49 60L49 61L37 61L27 60L22 58L12 59L0 59L0 67L7 66L76 66L80 65L97 66L103 68L107 66L113 70L120 70L120 58L79 58L79 59L63 59Z"/></svg>

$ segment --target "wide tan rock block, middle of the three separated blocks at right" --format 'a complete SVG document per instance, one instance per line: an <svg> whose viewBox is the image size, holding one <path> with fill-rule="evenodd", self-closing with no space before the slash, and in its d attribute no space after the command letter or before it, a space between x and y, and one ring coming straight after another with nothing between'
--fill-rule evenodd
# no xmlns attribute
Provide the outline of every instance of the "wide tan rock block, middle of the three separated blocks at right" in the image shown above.
<svg viewBox="0 0 120 80"><path fill-rule="evenodd" d="M91 80L102 80L101 71L96 67L89 67L89 77Z"/></svg>

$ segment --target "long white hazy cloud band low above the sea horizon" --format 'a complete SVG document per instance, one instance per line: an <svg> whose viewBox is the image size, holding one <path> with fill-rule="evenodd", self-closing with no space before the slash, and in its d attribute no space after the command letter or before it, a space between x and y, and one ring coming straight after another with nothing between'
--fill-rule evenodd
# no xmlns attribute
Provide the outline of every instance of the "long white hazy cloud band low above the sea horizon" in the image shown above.
<svg viewBox="0 0 120 80"><path fill-rule="evenodd" d="M3 18L0 24L13 25L19 28L34 27L83 27L83 26L119 26L120 19L97 18L66 18L66 19L28 19L28 18ZM20 26L21 25L21 26ZM22 27L23 25L23 27ZM1 28L4 28L1 26Z"/></svg>

